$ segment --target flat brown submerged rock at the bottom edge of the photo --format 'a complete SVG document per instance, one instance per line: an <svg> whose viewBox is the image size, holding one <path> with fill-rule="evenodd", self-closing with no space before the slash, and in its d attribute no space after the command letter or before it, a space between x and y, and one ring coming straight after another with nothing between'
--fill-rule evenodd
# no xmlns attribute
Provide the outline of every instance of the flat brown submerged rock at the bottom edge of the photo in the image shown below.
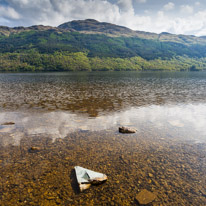
<svg viewBox="0 0 206 206"><path fill-rule="evenodd" d="M146 205L154 201L156 198L156 195L152 192L149 192L148 190L144 189L140 193L137 194L136 200L140 205Z"/></svg>

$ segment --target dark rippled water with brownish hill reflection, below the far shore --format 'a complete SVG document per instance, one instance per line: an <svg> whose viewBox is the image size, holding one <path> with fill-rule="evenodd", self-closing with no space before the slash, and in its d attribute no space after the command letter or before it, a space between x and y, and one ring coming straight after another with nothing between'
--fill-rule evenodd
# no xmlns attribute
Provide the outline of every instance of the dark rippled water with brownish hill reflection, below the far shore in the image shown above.
<svg viewBox="0 0 206 206"><path fill-rule="evenodd" d="M205 103L205 89L204 72L1 74L0 108L97 117L132 106Z"/></svg>

